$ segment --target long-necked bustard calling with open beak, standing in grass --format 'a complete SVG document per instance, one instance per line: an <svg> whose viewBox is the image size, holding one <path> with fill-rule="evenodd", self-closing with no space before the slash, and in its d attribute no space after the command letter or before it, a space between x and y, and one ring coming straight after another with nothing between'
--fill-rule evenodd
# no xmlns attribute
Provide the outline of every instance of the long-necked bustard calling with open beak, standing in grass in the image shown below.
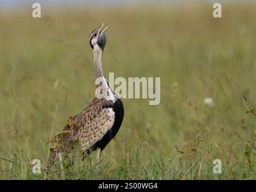
<svg viewBox="0 0 256 192"><path fill-rule="evenodd" d="M60 153L69 157L73 143L78 142L83 159L92 151L96 151L96 161L99 162L101 151L116 136L122 125L123 103L108 85L102 70L102 53L107 42L106 31L110 25L102 30L103 26L104 23L89 36L95 76L96 80L100 80L96 85L96 97L81 113L70 116L61 133L55 136L55 147L50 149L49 155L51 161Z"/></svg>

